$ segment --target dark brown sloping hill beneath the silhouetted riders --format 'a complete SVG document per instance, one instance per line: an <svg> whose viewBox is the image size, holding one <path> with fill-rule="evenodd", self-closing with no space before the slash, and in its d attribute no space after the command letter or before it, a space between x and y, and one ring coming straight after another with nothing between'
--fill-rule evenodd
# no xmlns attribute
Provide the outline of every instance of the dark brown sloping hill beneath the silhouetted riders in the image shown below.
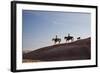
<svg viewBox="0 0 100 73"><path fill-rule="evenodd" d="M27 61L84 60L91 58L91 38L43 47L23 54Z"/></svg>

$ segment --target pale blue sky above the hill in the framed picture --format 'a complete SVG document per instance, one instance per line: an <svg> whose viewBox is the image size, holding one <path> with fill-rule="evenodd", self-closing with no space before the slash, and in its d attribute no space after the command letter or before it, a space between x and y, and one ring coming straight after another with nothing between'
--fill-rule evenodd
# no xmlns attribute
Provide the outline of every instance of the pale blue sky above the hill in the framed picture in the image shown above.
<svg viewBox="0 0 100 73"><path fill-rule="evenodd" d="M59 11L22 11L22 48L35 50L53 45L52 38L58 35L61 43L64 37L82 39L91 36L91 14Z"/></svg>

